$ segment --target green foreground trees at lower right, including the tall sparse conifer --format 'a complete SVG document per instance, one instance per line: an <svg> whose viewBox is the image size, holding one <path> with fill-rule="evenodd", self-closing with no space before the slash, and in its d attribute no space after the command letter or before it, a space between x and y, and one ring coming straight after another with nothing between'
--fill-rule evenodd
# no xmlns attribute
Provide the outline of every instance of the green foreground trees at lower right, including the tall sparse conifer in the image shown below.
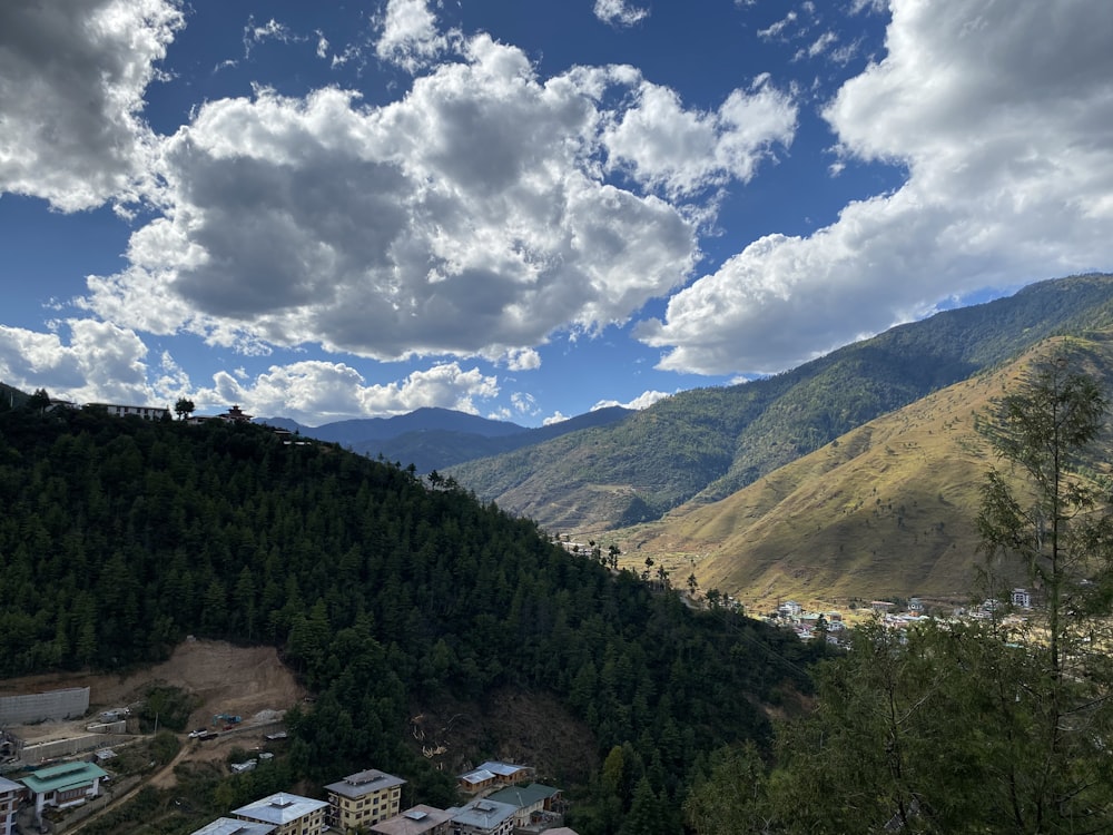
<svg viewBox="0 0 1113 835"><path fill-rule="evenodd" d="M1027 571L1034 611L857 629L818 671L816 710L778 731L768 796L725 809L735 832L1113 832L1107 406L1084 358L1032 366L977 423L997 455L983 549L998 573ZM739 779L719 766L692 800Z"/></svg>

